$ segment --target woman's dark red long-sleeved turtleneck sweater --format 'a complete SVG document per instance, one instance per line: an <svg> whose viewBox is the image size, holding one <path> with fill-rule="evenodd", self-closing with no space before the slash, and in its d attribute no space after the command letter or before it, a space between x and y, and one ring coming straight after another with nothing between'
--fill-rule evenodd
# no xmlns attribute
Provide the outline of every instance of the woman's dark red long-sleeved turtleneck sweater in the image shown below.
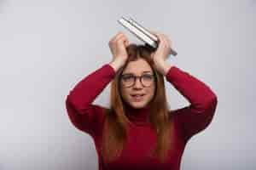
<svg viewBox="0 0 256 170"><path fill-rule="evenodd" d="M113 80L116 72L111 65L102 67L79 82L67 95L68 116L75 127L90 134L96 144L100 170L178 170L183 150L188 140L201 132L212 121L217 106L217 96L204 82L191 76L188 72L172 66L166 74L166 80L178 90L190 105L173 112L172 148L168 161L160 163L148 156L154 147L156 136L150 123L146 122L148 109L130 108L125 115L131 123L128 142L117 161L103 162L101 153L102 125L105 118L100 105L92 105L98 94Z"/></svg>

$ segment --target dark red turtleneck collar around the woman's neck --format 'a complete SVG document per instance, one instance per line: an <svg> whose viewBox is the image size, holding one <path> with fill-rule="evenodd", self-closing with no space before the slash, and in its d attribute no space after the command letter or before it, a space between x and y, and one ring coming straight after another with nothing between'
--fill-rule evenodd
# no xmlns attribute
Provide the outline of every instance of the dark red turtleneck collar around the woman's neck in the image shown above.
<svg viewBox="0 0 256 170"><path fill-rule="evenodd" d="M143 108L133 108L131 105L124 105L125 116L128 117L130 122L140 125L147 125L149 123L149 105Z"/></svg>

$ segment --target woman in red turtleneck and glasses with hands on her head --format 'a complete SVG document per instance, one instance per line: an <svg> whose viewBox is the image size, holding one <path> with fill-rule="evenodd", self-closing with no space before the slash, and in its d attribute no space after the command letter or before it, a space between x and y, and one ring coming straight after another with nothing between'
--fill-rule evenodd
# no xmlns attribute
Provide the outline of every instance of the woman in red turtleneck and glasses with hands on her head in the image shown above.
<svg viewBox="0 0 256 170"><path fill-rule="evenodd" d="M67 95L68 116L94 139L101 170L177 170L189 139L212 121L217 96L204 82L167 64L171 41L152 32L160 39L156 51L129 44L119 32L109 42L112 61ZM170 111L164 77L189 106ZM92 105L109 82L110 108Z"/></svg>

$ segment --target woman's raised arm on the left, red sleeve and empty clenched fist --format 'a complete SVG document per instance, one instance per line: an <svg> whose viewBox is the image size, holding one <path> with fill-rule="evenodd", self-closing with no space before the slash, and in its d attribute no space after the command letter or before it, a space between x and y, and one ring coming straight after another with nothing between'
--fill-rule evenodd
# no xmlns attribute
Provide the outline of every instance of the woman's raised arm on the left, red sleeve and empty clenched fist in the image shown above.
<svg viewBox="0 0 256 170"><path fill-rule="evenodd" d="M70 91L66 99L67 113L73 125L92 137L102 130L105 117L105 109L100 105L92 105L92 102L113 80L128 58L125 47L129 45L129 41L125 34L119 32L108 44L113 54L112 61L85 77Z"/></svg>

